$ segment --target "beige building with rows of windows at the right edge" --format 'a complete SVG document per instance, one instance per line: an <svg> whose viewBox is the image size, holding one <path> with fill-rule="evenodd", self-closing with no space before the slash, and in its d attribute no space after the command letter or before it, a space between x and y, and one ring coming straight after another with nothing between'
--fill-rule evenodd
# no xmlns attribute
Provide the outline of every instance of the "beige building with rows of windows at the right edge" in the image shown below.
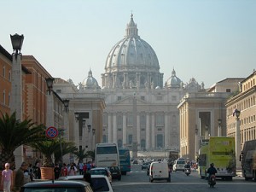
<svg viewBox="0 0 256 192"><path fill-rule="evenodd" d="M227 136L236 137L235 109L240 110L241 148L243 143L256 139L256 71L240 83L240 91L226 102Z"/></svg>

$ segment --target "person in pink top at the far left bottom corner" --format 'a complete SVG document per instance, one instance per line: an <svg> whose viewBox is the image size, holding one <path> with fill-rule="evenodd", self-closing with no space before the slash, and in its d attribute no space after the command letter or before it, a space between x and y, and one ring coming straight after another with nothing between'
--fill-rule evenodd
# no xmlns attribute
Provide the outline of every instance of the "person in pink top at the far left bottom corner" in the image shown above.
<svg viewBox="0 0 256 192"><path fill-rule="evenodd" d="M13 182L13 171L9 169L9 163L6 163L4 167L1 185L3 186L3 192L10 192L10 186Z"/></svg>

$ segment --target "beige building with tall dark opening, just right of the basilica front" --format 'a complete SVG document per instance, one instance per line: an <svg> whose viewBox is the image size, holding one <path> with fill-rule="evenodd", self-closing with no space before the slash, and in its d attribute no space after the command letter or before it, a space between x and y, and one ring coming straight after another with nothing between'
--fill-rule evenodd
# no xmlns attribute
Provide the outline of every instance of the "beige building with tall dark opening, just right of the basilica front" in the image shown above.
<svg viewBox="0 0 256 192"><path fill-rule="evenodd" d="M180 155L195 160L201 140L226 136L228 96L238 90L242 79L224 79L207 92L187 93L177 106L180 115Z"/></svg>

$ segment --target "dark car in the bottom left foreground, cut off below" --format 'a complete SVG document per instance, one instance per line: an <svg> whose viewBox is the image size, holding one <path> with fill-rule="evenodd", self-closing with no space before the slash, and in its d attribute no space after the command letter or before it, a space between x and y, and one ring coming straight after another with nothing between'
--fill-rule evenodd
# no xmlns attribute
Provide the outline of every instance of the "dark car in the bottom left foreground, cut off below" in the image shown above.
<svg viewBox="0 0 256 192"><path fill-rule="evenodd" d="M20 192L93 192L90 183L78 181L42 181L24 184Z"/></svg>

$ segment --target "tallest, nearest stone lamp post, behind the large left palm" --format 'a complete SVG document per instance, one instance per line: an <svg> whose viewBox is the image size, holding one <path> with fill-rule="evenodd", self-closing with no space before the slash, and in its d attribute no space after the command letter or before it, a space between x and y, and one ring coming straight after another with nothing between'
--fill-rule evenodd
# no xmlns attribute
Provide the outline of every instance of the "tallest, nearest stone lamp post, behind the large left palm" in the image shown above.
<svg viewBox="0 0 256 192"><path fill-rule="evenodd" d="M11 95L10 95L10 112L16 113L16 119L22 121L22 70L21 70L21 53L24 36L10 35L11 43L14 49L12 70L11 70ZM21 165L24 161L23 157L23 145L15 149L15 164Z"/></svg>

